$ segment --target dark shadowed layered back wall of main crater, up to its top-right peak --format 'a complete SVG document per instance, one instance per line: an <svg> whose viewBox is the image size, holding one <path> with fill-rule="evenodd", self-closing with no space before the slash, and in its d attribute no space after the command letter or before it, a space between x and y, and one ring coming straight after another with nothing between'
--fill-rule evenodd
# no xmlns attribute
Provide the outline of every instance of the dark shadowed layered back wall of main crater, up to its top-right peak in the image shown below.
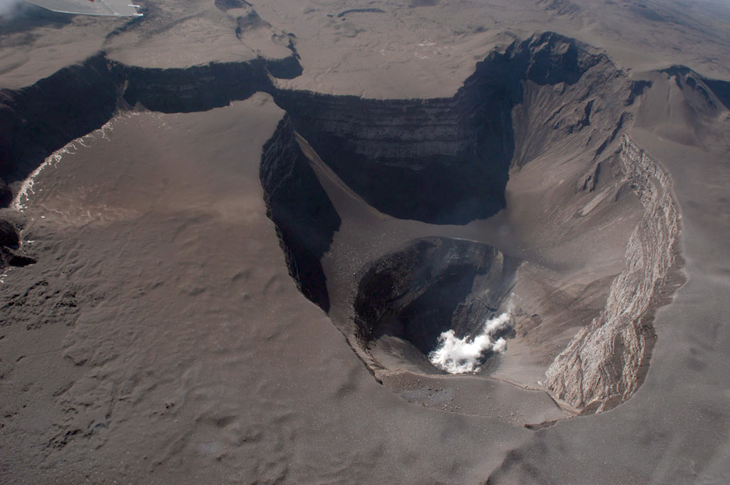
<svg viewBox="0 0 730 485"><path fill-rule="evenodd" d="M608 63L556 34L492 53L453 98L377 101L277 90L277 104L347 185L385 214L465 224L504 209L523 82L573 85Z"/></svg>

